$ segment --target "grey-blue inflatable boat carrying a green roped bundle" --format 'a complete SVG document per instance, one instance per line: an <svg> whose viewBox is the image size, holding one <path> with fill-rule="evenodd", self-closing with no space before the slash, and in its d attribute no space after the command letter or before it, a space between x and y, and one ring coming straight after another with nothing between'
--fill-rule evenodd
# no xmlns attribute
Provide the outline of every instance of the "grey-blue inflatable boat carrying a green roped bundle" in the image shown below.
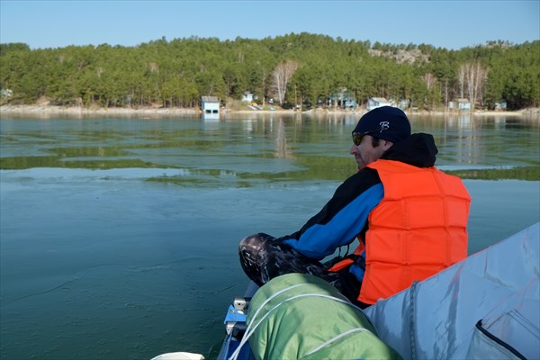
<svg viewBox="0 0 540 360"><path fill-rule="evenodd" d="M224 327L219 360L540 359L540 222L364 311L311 275L250 284Z"/></svg>

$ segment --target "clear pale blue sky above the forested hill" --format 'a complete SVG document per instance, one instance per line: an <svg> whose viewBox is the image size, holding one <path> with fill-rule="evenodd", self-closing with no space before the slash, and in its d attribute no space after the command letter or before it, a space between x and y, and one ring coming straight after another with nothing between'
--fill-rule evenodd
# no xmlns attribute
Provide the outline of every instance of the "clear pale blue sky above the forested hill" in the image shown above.
<svg viewBox="0 0 540 360"><path fill-rule="evenodd" d="M488 40L539 40L539 22L540 0L0 0L0 42L24 42L31 49L135 46L164 36L262 39L302 31L461 49Z"/></svg>

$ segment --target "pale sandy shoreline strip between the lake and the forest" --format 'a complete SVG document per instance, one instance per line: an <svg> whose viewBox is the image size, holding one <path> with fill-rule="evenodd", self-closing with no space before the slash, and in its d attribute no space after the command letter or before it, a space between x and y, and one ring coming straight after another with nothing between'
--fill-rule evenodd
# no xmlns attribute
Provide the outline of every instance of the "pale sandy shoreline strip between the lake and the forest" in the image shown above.
<svg viewBox="0 0 540 360"><path fill-rule="evenodd" d="M334 109L311 109L308 111L295 110L221 110L222 114L356 114L358 116L367 112L365 109L356 111L351 110L334 110ZM410 112L405 111L408 115L473 115L473 116L527 116L538 118L540 120L540 108L530 108L512 112L494 112L494 111L474 111L474 112ZM0 119L4 116L22 115L31 117L50 117L50 116L134 116L134 117L170 117L170 116L202 116L203 113L199 109L188 108L97 108L87 109L82 107L54 106L54 105L2 105L0 106Z"/></svg>

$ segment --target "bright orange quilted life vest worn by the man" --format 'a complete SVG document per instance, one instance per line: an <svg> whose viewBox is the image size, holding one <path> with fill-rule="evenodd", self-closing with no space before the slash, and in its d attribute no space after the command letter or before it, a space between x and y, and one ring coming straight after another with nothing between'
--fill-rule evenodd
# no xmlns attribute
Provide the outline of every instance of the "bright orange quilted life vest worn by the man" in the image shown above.
<svg viewBox="0 0 540 360"><path fill-rule="evenodd" d="M467 257L471 196L459 177L436 167L383 159L368 167L384 187L383 200L368 216L358 296L373 304Z"/></svg>

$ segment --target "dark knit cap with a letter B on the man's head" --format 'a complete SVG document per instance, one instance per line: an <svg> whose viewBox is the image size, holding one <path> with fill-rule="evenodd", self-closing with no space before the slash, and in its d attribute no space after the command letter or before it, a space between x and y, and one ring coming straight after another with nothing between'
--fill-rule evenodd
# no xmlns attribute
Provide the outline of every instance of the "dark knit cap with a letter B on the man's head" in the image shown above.
<svg viewBox="0 0 540 360"><path fill-rule="evenodd" d="M396 143L410 137L410 122L401 109L382 106L366 112L356 124L355 133L369 133L374 138Z"/></svg>

